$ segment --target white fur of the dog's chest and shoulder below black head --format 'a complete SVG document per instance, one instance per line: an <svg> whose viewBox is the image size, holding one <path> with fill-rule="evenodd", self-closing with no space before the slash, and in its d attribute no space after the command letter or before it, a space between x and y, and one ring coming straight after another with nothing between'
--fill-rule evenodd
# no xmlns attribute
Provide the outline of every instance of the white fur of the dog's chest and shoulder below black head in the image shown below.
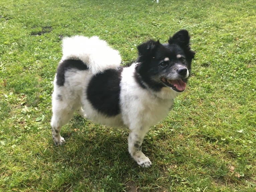
<svg viewBox="0 0 256 192"><path fill-rule="evenodd" d="M134 79L135 64L124 68L120 103L124 124L130 129L150 127L164 119L173 105L176 91L168 87L154 92L138 85Z"/></svg>

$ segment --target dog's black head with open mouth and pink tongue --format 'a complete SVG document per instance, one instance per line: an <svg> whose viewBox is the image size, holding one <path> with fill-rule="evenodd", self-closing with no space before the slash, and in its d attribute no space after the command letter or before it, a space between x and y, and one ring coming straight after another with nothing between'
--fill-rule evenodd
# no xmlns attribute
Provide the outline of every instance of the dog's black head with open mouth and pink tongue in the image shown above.
<svg viewBox="0 0 256 192"><path fill-rule="evenodd" d="M175 92L184 91L195 55L190 50L189 39L188 32L180 30L169 38L167 44L149 40L139 45L136 72L142 84L154 91L163 87Z"/></svg>

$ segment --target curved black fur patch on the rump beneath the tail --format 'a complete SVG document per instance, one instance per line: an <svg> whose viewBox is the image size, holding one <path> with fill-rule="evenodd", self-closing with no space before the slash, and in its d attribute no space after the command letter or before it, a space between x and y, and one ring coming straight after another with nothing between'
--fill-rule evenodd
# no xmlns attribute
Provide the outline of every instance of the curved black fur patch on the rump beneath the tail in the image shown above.
<svg viewBox="0 0 256 192"><path fill-rule="evenodd" d="M57 68L57 85L63 86L65 83L65 73L69 69L78 69L78 70L87 70L88 67L83 61L75 60L75 59L68 59L64 60L63 62L59 63Z"/></svg>

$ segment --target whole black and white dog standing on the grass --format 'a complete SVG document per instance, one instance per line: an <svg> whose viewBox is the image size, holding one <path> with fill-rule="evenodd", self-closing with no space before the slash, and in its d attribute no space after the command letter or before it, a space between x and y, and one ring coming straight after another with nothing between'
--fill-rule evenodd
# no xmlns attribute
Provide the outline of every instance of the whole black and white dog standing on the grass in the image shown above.
<svg viewBox="0 0 256 192"><path fill-rule="evenodd" d="M61 127L77 112L107 126L128 127L128 149L142 167L151 162L141 151L150 126L165 118L174 98L186 88L195 52L189 35L180 30L167 44L149 40L128 67L118 51L98 37L63 39L63 56L54 78L51 119L55 144L65 140Z"/></svg>

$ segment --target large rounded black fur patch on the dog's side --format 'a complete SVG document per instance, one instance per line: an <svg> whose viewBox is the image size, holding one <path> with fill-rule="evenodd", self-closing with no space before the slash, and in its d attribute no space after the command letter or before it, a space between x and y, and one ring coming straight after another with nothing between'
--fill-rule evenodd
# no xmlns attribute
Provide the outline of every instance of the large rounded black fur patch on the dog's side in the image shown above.
<svg viewBox="0 0 256 192"><path fill-rule="evenodd" d="M120 114L120 81L123 68L96 74L87 88L87 99L100 113L112 117Z"/></svg>

